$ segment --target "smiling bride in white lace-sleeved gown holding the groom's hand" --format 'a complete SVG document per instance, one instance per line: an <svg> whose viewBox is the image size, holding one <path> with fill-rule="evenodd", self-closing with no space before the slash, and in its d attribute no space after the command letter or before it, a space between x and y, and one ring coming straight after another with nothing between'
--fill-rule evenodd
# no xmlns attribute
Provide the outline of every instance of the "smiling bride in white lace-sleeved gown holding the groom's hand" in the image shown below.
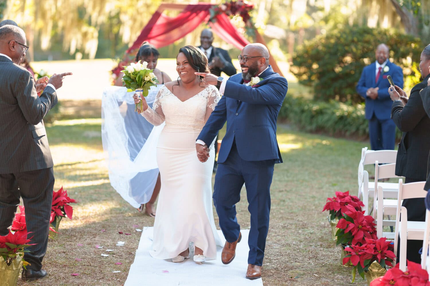
<svg viewBox="0 0 430 286"><path fill-rule="evenodd" d="M182 262L190 257L188 246L194 243L193 259L201 263L216 258L221 241L212 212L213 142L212 159L203 164L196 157L195 144L221 96L215 86L204 87L194 74L209 72L200 49L190 45L180 48L176 71L178 80L160 88L152 109L142 98L141 115L155 126L166 122L157 145L161 190L150 254ZM136 95L133 98L139 102Z"/></svg>

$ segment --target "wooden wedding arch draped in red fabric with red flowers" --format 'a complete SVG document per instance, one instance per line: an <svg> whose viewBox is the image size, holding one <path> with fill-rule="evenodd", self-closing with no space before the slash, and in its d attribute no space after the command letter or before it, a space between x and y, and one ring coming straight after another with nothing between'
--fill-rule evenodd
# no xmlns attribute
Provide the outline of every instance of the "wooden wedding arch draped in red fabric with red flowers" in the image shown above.
<svg viewBox="0 0 430 286"><path fill-rule="evenodd" d="M232 3L236 5L232 7L233 9L231 9L231 11L227 10L227 5L230 5L231 7ZM161 48L183 38L203 22L208 22L212 31L225 42L228 42L242 50L245 45L249 44L249 41L239 33L238 29L231 23L230 18L227 15L229 13L231 14L231 12L233 12L233 14L240 14L247 24L247 30L252 30L255 34L255 41L266 45L266 42L260 33L258 33L258 30L255 29L253 24L249 24L250 19L246 9L250 7L252 9L252 5L246 4L240 0L230 1L227 5L221 4L219 5L220 8L218 8L218 5L210 3L161 3L133 45L126 51L123 61L120 62L112 72L118 75L123 69L122 66L129 64L144 41L150 42L157 48ZM167 9L181 10L181 12L178 16L172 18L163 14L163 11ZM276 64L276 60L271 54L270 65L275 72L282 75L281 70Z"/></svg>

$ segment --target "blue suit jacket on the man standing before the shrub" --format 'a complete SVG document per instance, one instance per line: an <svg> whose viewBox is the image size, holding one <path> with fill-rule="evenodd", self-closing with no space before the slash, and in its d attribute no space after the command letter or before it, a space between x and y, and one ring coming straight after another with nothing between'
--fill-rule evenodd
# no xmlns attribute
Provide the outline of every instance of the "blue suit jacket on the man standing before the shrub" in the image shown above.
<svg viewBox="0 0 430 286"><path fill-rule="evenodd" d="M360 80L356 86L356 90L364 97L366 106L366 119L371 119L373 114L375 114L376 118L379 120L385 120L391 118L391 105L393 101L390 98L390 94L388 93L388 87L390 87L390 83L388 82L387 75L391 75L393 78L394 84L398 87L403 88L403 71L400 66L396 66L394 63L390 61L387 62L389 70L388 72L382 71L381 76L378 79L378 82L375 82L376 77L376 63L373 62L369 66L365 66L363 72L361 73ZM366 91L370 87L379 87L378 97L376 99L371 99L366 96Z"/></svg>

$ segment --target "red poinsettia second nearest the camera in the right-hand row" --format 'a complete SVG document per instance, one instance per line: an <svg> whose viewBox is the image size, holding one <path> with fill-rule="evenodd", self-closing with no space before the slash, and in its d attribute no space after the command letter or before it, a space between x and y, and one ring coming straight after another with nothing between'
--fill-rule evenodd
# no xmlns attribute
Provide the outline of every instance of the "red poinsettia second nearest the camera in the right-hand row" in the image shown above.
<svg viewBox="0 0 430 286"><path fill-rule="evenodd" d="M342 263L344 265L348 262L352 263L352 282L355 280L357 270L359 275L364 279L364 272L368 271L369 266L373 262L377 261L382 268L385 268L386 265L393 267L392 262L396 257L393 252L393 243L387 241L387 238L364 239L365 244L345 247L345 251L349 253L345 256Z"/></svg>

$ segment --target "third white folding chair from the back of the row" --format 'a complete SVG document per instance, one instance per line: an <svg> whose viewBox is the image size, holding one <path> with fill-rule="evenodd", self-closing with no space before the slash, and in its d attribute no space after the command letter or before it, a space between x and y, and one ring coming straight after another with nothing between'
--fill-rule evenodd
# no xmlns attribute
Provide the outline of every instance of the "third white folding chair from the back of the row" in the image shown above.
<svg viewBox="0 0 430 286"><path fill-rule="evenodd" d="M426 182L414 182L403 184L399 179L399 196L397 197L396 231L394 234L394 254L397 256L397 244L400 236L400 270L406 271L406 242L408 239L423 240L426 223L424 221L409 221L408 210L402 207L402 200L413 198L425 198L424 190Z"/></svg>

